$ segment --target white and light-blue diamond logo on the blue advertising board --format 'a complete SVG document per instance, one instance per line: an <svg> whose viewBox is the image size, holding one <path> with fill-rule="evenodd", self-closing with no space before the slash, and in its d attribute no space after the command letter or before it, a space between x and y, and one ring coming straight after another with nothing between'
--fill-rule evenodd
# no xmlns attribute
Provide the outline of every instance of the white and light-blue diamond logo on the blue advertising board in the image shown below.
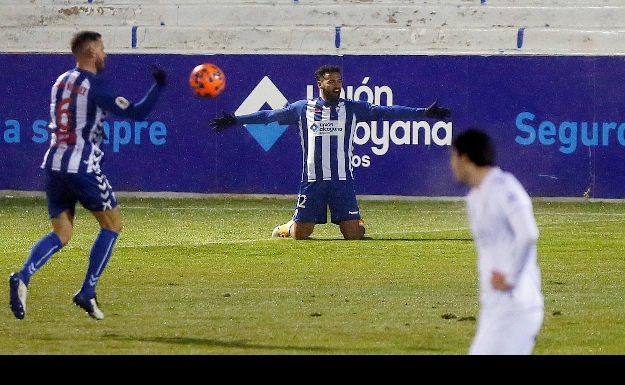
<svg viewBox="0 0 625 385"><path fill-rule="evenodd" d="M256 88L247 96L239 108L234 112L235 115L247 115L258 112L269 105L271 109L280 109L286 105L288 100L282 95L282 92L269 79L269 76L262 78ZM245 128L247 132L261 145L265 151L271 150L277 140L286 131L288 125L280 125L277 122L270 124L247 124Z"/></svg>

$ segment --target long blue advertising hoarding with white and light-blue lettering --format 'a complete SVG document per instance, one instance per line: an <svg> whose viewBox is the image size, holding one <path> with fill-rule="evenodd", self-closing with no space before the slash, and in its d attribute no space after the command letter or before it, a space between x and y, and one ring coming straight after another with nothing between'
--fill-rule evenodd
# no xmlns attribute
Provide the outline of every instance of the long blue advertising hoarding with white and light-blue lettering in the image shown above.
<svg viewBox="0 0 625 385"><path fill-rule="evenodd" d="M150 65L169 86L145 122L109 116L103 172L115 191L295 194L299 128L208 128L221 110L247 114L316 97L313 73L342 67L344 97L381 105L452 110L450 122L363 122L354 139L357 194L459 196L449 170L452 135L486 130L497 162L532 197L625 198L625 58L536 56L109 55L103 76L129 100L151 85ZM192 94L189 73L213 63L227 86L215 99ZM50 88L71 69L63 54L0 54L0 190L42 190Z"/></svg>

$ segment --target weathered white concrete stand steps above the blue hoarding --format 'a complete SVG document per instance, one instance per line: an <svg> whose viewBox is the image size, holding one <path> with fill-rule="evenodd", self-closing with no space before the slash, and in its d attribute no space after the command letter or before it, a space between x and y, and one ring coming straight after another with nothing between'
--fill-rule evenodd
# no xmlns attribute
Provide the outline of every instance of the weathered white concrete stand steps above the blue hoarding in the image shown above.
<svg viewBox="0 0 625 385"><path fill-rule="evenodd" d="M0 0L0 51L621 55L622 0Z"/></svg>

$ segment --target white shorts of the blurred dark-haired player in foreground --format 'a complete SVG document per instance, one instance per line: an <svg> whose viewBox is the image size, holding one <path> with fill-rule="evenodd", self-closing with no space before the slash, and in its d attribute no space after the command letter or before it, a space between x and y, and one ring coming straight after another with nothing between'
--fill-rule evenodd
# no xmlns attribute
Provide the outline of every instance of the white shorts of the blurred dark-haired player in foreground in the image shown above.
<svg viewBox="0 0 625 385"><path fill-rule="evenodd" d="M469 354L532 354L544 309L481 311Z"/></svg>

